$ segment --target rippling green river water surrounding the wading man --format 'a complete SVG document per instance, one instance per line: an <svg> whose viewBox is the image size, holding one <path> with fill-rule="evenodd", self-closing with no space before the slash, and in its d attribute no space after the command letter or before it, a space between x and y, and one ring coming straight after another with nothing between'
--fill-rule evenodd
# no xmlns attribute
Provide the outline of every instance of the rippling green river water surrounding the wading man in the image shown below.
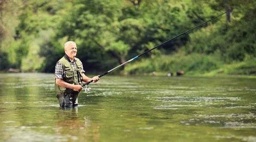
<svg viewBox="0 0 256 142"><path fill-rule="evenodd" d="M54 74L0 74L3 142L256 142L256 79L106 75L60 108Z"/></svg>

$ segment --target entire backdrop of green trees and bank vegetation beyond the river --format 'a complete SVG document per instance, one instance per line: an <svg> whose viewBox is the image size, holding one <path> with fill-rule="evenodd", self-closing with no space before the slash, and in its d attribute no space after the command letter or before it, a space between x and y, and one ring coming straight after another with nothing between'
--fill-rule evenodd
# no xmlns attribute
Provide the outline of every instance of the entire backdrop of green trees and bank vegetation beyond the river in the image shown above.
<svg viewBox="0 0 256 142"><path fill-rule="evenodd" d="M116 73L255 75L255 0L1 0L0 70L54 72L73 40L103 73L224 11Z"/></svg>

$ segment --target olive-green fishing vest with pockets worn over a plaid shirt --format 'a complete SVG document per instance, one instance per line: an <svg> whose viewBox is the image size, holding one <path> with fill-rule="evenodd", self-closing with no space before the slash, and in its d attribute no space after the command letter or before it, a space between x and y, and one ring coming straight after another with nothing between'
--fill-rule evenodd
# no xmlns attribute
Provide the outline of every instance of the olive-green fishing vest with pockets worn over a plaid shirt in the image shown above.
<svg viewBox="0 0 256 142"><path fill-rule="evenodd" d="M76 58L76 62L75 62L76 68L73 68L73 66L70 63L70 60L67 58L68 57L65 55L58 61L58 62L61 62L62 69L63 69L62 80L64 80L67 83L74 84L74 85L82 84L81 61ZM57 85L56 79L55 79L55 90L59 93L75 93L75 92L77 92L70 88L64 88L64 87L61 87L60 85Z"/></svg>

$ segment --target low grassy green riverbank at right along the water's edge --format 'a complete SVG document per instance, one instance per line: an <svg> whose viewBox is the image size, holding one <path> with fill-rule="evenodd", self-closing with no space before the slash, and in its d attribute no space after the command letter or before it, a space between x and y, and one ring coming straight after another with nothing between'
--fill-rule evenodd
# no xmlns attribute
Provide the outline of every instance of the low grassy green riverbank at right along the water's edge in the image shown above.
<svg viewBox="0 0 256 142"><path fill-rule="evenodd" d="M189 76L256 76L256 58L244 61L224 62L216 54L182 53L143 58L125 66L124 74L166 75L184 71Z"/></svg>

